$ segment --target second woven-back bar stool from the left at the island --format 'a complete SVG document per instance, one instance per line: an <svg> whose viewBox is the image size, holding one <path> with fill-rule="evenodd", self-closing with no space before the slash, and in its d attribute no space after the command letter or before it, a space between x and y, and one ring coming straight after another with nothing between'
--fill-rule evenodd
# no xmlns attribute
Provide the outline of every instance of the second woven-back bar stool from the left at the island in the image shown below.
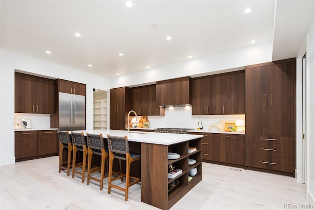
<svg viewBox="0 0 315 210"><path fill-rule="evenodd" d="M72 178L74 174L78 174L82 176L82 182L84 182L85 176L85 168L87 163L87 154L88 148L85 142L84 133L74 133L71 132L71 139L72 139L72 147L73 147L73 157L72 157ZM83 152L82 163L76 164L76 156L78 151ZM82 173L77 171L77 168L82 168Z"/></svg>

